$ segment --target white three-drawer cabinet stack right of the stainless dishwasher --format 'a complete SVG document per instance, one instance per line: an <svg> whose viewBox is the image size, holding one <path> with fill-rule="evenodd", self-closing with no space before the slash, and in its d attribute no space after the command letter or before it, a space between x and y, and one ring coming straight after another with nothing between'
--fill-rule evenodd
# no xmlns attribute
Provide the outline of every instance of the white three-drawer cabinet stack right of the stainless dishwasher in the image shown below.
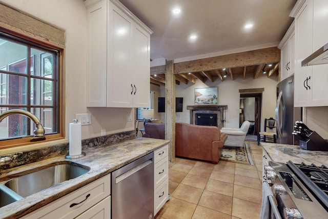
<svg viewBox="0 0 328 219"><path fill-rule="evenodd" d="M154 152L154 215L169 200L169 145Z"/></svg>

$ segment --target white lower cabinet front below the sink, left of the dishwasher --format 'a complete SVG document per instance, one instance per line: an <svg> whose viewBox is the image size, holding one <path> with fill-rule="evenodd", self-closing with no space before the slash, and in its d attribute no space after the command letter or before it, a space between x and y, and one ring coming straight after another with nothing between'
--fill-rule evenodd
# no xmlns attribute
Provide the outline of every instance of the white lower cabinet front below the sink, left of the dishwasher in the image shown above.
<svg viewBox="0 0 328 219"><path fill-rule="evenodd" d="M22 218L111 218L111 174L71 192Z"/></svg>

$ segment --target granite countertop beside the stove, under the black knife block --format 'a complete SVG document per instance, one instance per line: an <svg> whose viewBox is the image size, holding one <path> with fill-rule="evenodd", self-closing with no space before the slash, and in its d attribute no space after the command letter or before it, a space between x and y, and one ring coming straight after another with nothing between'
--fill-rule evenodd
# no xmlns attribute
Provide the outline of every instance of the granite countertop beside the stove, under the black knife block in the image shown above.
<svg viewBox="0 0 328 219"><path fill-rule="evenodd" d="M293 163L304 162L307 165L328 166L328 151L310 151L301 149L299 145L274 143L261 143L261 146L275 162L292 161Z"/></svg>

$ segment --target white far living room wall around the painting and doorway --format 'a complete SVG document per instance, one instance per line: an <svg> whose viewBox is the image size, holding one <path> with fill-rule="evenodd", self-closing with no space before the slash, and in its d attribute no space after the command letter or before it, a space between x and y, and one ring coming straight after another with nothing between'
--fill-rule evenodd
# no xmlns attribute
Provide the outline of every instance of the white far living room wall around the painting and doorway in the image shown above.
<svg viewBox="0 0 328 219"><path fill-rule="evenodd" d="M238 75L234 81L231 78L227 78L223 82L217 79L213 83L208 80L202 83L196 79L195 85L190 82L187 85L180 83L180 85L176 85L176 96L183 97L183 112L176 113L176 122L190 123L190 112L187 110L187 105L194 105L195 88L218 87L218 104L228 105L224 126L231 128L239 127L239 89L264 88L261 117L261 124L263 124L264 118L269 118L275 114L277 83L278 78L276 76L268 78L267 75L260 75L256 79L251 75L242 79L242 76ZM162 94L164 96L165 89L162 89L161 92L164 92Z"/></svg>

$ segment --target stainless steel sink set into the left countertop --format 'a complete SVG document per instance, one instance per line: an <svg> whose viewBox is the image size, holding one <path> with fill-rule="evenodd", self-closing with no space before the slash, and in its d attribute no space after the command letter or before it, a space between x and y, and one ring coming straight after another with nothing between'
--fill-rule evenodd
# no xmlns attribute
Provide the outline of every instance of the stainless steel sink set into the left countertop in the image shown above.
<svg viewBox="0 0 328 219"><path fill-rule="evenodd" d="M54 164L54 166L22 173L21 176L0 182L0 208L43 189L76 178L89 170L89 167L77 166L74 163Z"/></svg>

